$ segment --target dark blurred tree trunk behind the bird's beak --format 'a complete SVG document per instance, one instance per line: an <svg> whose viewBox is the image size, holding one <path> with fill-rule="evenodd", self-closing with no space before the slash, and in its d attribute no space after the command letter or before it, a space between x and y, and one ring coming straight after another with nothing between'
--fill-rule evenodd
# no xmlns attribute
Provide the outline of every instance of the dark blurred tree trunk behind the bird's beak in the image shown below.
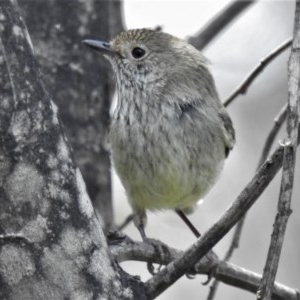
<svg viewBox="0 0 300 300"><path fill-rule="evenodd" d="M119 1L19 1L44 80L59 107L89 196L105 227L113 223L105 136L114 85L108 63L81 41L121 31Z"/></svg>

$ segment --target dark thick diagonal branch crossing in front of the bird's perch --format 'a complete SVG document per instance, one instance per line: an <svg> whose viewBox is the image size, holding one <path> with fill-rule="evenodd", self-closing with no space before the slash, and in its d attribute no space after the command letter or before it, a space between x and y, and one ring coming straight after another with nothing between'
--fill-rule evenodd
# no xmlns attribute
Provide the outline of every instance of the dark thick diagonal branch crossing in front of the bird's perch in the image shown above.
<svg viewBox="0 0 300 300"><path fill-rule="evenodd" d="M145 283L148 299L154 299L187 273L243 217L281 168L283 152L284 147L279 146L223 216L179 258Z"/></svg>

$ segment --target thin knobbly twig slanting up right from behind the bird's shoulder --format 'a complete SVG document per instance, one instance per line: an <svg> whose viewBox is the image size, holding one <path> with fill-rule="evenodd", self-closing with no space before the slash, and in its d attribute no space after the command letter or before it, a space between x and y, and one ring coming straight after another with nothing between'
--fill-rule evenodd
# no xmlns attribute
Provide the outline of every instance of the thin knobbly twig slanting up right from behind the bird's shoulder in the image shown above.
<svg viewBox="0 0 300 300"><path fill-rule="evenodd" d="M292 44L292 38L287 39L277 48L272 50L266 57L264 57L257 66L245 77L239 86L229 95L224 101L224 106L228 106L239 94L245 94L248 87L253 80L265 69L265 67L280 53L287 49Z"/></svg>

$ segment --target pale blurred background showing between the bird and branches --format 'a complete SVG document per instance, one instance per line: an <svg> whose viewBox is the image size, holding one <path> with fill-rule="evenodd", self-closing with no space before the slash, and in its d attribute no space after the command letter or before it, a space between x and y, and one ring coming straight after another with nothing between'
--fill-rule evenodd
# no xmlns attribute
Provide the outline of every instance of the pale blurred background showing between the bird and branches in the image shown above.
<svg viewBox="0 0 300 300"><path fill-rule="evenodd" d="M127 28L155 27L181 38L194 35L215 13L229 1L124 1ZM225 99L241 80L272 49L292 35L294 1L257 1L221 32L204 49L211 62L221 99ZM211 192L199 204L190 219L200 232L206 231L236 199L255 173L266 136L274 117L287 101L287 61L289 50L281 54L254 81L244 96L239 96L228 108L236 129L237 144L226 161L224 171ZM285 125L276 141L285 136ZM276 145L275 145L276 146ZM274 146L274 147L275 147ZM274 148L273 147L273 148ZM298 155L299 155L298 151ZM300 288L300 189L298 158L292 209L277 281ZM247 215L242 240L235 252L233 263L251 271L262 273L272 224L277 210L281 173L258 199ZM114 208L117 223L130 213L124 190L113 173ZM195 238L186 225L173 212L148 213L146 232L149 237L160 239L170 246L186 249ZM139 240L139 234L131 224L126 233ZM216 247L219 257L228 249L232 232ZM124 269L142 279L149 277L144 263L127 262ZM182 278L158 299L177 300L188 296L189 300L206 299L208 286L202 286L206 277L194 280ZM254 295L223 284L216 299L254 299Z"/></svg>

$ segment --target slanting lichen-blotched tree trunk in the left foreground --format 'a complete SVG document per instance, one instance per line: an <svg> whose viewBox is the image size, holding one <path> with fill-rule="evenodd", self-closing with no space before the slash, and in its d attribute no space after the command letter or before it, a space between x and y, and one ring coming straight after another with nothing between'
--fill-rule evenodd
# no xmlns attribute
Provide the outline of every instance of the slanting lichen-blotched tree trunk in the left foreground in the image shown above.
<svg viewBox="0 0 300 300"><path fill-rule="evenodd" d="M0 69L0 299L143 299L109 255L13 0Z"/></svg>

